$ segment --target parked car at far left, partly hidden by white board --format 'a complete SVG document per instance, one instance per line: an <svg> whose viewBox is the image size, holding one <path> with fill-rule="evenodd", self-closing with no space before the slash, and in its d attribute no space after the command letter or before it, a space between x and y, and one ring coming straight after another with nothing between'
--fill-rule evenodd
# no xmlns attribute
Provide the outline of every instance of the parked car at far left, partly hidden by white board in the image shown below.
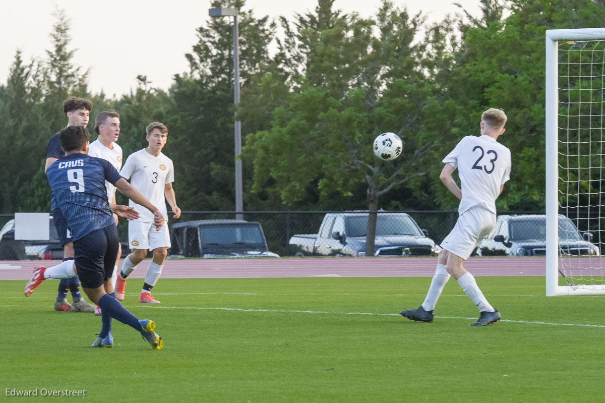
<svg viewBox="0 0 605 403"><path fill-rule="evenodd" d="M0 260L63 260L63 246L50 217L47 241L15 240L15 220L8 220L0 229ZM122 258L129 253L128 243L122 244Z"/></svg>

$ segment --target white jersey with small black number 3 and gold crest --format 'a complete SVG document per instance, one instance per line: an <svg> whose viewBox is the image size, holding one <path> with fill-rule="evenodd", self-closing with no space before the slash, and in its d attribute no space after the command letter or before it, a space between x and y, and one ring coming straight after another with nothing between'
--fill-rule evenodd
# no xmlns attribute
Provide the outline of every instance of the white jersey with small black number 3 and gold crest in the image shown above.
<svg viewBox="0 0 605 403"><path fill-rule="evenodd" d="M130 179L130 184L151 201L151 204L157 207L168 221L164 189L166 183L174 182L174 166L171 159L161 152L159 156L154 157L143 148L128 156L120 175ZM139 221L145 223L154 221L154 216L148 209L132 200L129 201L129 206L140 213Z"/></svg>

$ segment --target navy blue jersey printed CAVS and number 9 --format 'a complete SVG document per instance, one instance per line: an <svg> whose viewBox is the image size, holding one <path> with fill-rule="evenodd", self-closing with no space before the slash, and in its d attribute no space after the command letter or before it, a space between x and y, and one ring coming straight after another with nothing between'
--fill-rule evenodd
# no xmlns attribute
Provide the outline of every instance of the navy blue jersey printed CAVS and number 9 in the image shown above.
<svg viewBox="0 0 605 403"><path fill-rule="evenodd" d="M105 180L115 185L122 177L110 162L74 152L49 166L46 176L74 241L97 229L116 225L107 201Z"/></svg>

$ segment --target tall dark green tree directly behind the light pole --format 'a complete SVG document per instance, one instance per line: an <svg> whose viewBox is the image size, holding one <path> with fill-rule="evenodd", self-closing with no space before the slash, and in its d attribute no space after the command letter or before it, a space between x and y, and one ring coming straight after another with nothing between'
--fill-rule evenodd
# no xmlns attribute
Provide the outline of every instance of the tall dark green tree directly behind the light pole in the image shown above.
<svg viewBox="0 0 605 403"><path fill-rule="evenodd" d="M212 2L213 7L238 9L240 38L240 82L244 91L250 77L261 74L270 62L267 47L275 24L267 17L255 18L241 0ZM213 18L197 30L198 43L187 54L189 72L175 75L169 91L174 105L169 111L169 146L178 155L175 189L183 209L234 209L234 84L233 23ZM243 120L247 133L249 121ZM258 124L258 121L255 123ZM244 165L244 190L251 176ZM244 191L244 206L249 194Z"/></svg>

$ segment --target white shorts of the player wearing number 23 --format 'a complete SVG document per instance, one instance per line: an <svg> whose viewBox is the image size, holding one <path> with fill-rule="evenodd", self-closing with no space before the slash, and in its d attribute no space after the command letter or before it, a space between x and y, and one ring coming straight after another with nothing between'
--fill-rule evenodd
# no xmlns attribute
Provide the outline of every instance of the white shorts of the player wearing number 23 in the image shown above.
<svg viewBox="0 0 605 403"><path fill-rule="evenodd" d="M473 206L458 217L454 229L442 241L441 247L466 260L494 226L494 213L482 205Z"/></svg>

